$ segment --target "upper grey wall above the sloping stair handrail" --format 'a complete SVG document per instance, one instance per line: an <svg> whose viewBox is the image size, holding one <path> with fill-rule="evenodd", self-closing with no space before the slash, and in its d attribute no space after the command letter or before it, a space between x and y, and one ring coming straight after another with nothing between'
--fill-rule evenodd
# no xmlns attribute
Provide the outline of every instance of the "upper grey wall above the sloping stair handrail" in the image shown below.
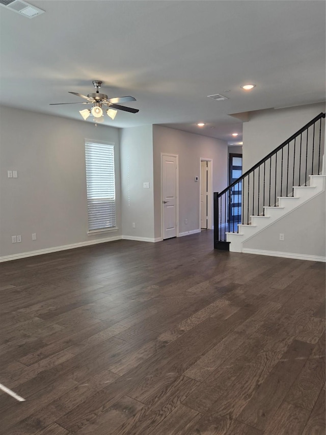
<svg viewBox="0 0 326 435"><path fill-rule="evenodd" d="M250 112L242 125L242 171L246 172L281 143L325 112L325 103Z"/></svg>

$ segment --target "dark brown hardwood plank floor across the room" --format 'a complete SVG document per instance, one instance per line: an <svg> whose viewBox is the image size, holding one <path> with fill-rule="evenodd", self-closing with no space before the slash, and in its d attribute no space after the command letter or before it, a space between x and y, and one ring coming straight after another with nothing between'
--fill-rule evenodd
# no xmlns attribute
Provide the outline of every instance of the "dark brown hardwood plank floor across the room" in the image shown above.
<svg viewBox="0 0 326 435"><path fill-rule="evenodd" d="M325 434L325 264L212 245L0 264L1 433Z"/></svg>

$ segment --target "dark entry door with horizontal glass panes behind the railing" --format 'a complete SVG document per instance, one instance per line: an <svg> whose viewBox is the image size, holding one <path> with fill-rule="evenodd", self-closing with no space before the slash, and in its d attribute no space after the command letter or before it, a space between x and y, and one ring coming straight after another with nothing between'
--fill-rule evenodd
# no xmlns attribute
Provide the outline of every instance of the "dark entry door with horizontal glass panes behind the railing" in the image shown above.
<svg viewBox="0 0 326 435"><path fill-rule="evenodd" d="M229 186L242 175L242 154L230 152L229 156ZM241 223L241 198L242 181L237 183L229 193L229 213L228 226L229 232L237 232L238 224Z"/></svg>

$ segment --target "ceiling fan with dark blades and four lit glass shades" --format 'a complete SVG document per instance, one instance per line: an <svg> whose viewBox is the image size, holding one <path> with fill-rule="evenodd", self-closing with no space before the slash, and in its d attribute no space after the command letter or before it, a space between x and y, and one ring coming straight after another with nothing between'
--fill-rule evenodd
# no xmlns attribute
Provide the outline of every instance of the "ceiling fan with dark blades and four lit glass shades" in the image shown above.
<svg viewBox="0 0 326 435"><path fill-rule="evenodd" d="M85 120L92 114L94 117L93 120L95 121L95 126L97 125L97 123L104 121L102 106L108 107L108 109L106 109L105 112L112 119L115 118L117 114L117 110L123 110L124 112L130 112L130 113L139 112L138 109L120 106L119 104L117 104L117 103L125 103L125 101L135 101L136 99L134 97L128 95L124 97L108 98L106 94L101 94L98 91L102 85L102 82L100 80L94 80L93 85L96 88L96 92L88 94L87 96L78 94L78 92L69 92L70 94L85 98L87 102L80 101L78 103L52 103L50 104L50 106L58 106L61 104L91 104L92 105L91 109L80 110L79 113L80 115L82 115L82 117Z"/></svg>

